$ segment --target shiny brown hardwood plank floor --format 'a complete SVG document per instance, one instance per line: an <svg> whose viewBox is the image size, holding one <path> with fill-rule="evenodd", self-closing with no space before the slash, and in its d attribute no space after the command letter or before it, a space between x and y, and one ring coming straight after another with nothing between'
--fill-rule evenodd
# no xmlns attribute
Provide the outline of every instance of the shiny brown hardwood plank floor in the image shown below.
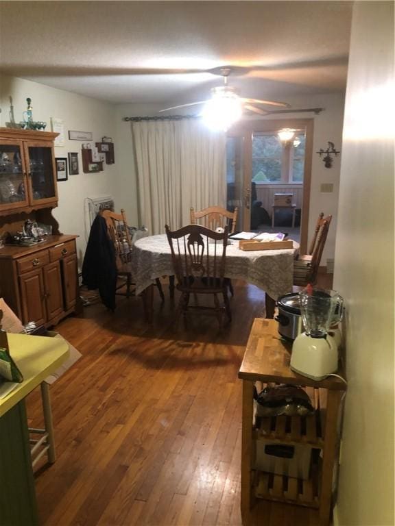
<svg viewBox="0 0 395 526"><path fill-rule="evenodd" d="M82 358L51 386L58 459L36 470L47 526L241 525L241 381L237 372L264 293L235 283L232 324L200 316L173 332L174 308L117 297L56 330ZM29 423L41 422L38 392ZM248 521L313 526L316 512L261 501Z"/></svg>

